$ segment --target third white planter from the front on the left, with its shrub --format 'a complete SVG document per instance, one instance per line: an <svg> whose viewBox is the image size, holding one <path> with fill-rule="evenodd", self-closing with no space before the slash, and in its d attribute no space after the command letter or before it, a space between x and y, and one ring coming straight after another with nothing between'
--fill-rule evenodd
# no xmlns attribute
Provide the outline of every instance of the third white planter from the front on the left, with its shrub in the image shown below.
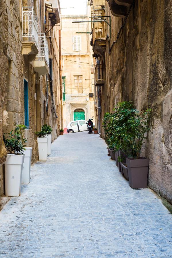
<svg viewBox="0 0 172 258"><path fill-rule="evenodd" d="M47 144L48 144L48 136L47 133L42 131L36 132L37 142L38 142L38 153L39 160L46 161L47 160Z"/></svg>

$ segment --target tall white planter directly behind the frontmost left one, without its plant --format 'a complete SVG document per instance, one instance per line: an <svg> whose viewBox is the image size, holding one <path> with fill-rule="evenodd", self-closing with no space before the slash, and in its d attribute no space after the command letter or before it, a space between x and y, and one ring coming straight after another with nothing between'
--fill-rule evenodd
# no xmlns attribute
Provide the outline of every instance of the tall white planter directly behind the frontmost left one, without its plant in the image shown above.
<svg viewBox="0 0 172 258"><path fill-rule="evenodd" d="M32 157L32 147L26 147L24 150L24 163L22 171L22 184L28 184L30 182L30 165Z"/></svg>

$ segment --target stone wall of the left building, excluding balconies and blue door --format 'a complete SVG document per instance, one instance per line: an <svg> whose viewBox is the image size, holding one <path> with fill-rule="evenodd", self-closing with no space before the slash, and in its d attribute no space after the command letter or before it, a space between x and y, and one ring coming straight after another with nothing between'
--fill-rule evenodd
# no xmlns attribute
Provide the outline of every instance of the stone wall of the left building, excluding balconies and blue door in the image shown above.
<svg viewBox="0 0 172 258"><path fill-rule="evenodd" d="M50 85L47 84L48 75L40 76L36 73L32 62L33 58L31 60L29 55L22 54L22 6L34 7L38 19L38 33L44 31L44 0L0 0L0 194L4 193L2 187L4 180L3 167L1 165L7 155L3 143L3 133L13 130L16 124L25 123L24 79L28 81L29 106L29 127L25 130L25 137L27 138L26 147L33 148L32 163L38 160L35 132L41 130L42 125L47 123L53 128L52 140L55 140L60 129L58 36L56 41L53 28L46 35L48 37L52 36L51 47L53 48L53 53L51 59L53 60L54 79L52 98ZM47 19L48 17L47 12ZM50 23L49 20L47 21L48 23ZM49 25L50 27L51 24ZM53 103L55 104L54 106ZM47 108L45 105L47 105ZM54 116L53 107L58 114L58 119Z"/></svg>

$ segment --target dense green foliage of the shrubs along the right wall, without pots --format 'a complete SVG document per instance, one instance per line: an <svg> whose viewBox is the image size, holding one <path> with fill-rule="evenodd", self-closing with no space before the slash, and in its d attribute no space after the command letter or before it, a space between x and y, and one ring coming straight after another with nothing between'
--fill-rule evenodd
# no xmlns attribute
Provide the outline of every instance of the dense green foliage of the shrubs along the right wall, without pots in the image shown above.
<svg viewBox="0 0 172 258"><path fill-rule="evenodd" d="M127 157L137 159L146 132L150 130L148 125L151 109L139 114L131 101L123 101L118 103L113 111L113 114L106 113L103 120L108 146L116 151L122 150ZM123 160L122 157L118 159Z"/></svg>

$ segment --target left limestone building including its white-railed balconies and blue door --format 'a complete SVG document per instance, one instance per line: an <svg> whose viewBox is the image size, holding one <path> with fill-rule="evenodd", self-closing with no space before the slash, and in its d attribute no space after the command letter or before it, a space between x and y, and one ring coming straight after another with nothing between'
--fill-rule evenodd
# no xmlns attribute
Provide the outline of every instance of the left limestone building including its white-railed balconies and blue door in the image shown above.
<svg viewBox="0 0 172 258"><path fill-rule="evenodd" d="M27 147L38 159L35 132L43 124L53 128L52 140L61 126L59 0L0 0L0 194L7 152L3 133L25 124Z"/></svg>

